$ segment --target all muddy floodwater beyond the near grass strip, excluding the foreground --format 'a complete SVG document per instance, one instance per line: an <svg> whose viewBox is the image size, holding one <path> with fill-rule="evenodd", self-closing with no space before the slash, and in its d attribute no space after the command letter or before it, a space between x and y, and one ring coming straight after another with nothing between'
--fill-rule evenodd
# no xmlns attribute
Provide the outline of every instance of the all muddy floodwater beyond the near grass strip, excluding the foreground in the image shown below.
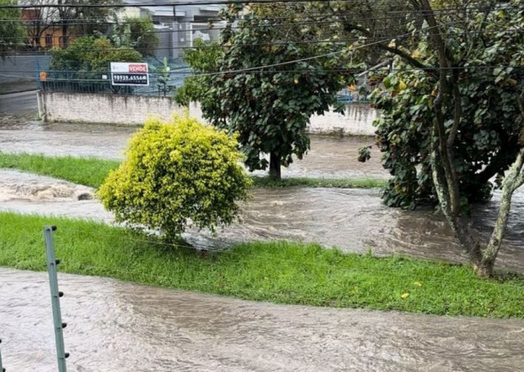
<svg viewBox="0 0 524 372"><path fill-rule="evenodd" d="M119 159L137 127L85 125L38 121L21 121L0 125L0 150L48 155L96 156ZM312 150L296 161L283 176L386 178L380 153L374 148L372 161L359 163L359 147L372 138L312 138ZM77 200L78 185L70 184L68 198L41 198L49 194L40 189L66 185L52 178L41 178L12 171L0 171L0 209L23 213L94 218L111 221L96 199ZM23 188L31 188L37 197L28 198ZM14 194L13 194L14 193ZM3 197L6 194L10 197ZM27 190L26 190L27 194ZM92 190L91 190L92 194ZM254 189L254 198L243 205L242 223L217 236L203 231L188 231L185 238L198 247L226 247L245 240L288 239L319 242L343 251L376 255L407 254L464 262L447 223L429 208L401 211L381 204L379 190L374 189ZM474 207L472 227L487 239L496 218L498 194L486 205ZM524 272L524 188L514 194L507 236L497 260L497 267Z"/></svg>

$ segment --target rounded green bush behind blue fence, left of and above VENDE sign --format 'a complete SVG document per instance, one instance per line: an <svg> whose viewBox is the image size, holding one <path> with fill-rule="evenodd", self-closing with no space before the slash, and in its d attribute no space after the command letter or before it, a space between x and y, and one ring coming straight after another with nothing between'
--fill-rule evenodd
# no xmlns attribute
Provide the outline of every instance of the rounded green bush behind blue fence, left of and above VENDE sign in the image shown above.
<svg viewBox="0 0 524 372"><path fill-rule="evenodd" d="M57 48L51 52L51 70L75 72L108 72L110 62L141 62L136 50L115 47L105 37L80 37L68 48Z"/></svg>

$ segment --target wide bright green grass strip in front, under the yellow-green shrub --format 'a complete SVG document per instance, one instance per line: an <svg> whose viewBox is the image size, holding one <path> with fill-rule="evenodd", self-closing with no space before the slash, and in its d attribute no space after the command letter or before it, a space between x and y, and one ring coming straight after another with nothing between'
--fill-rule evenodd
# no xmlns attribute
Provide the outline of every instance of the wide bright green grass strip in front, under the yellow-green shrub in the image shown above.
<svg viewBox="0 0 524 372"><path fill-rule="evenodd" d="M466 266L291 242L202 254L66 218L0 213L0 266L44 270L42 227L50 224L59 269L70 273L289 304L524 318L524 276L481 280Z"/></svg>

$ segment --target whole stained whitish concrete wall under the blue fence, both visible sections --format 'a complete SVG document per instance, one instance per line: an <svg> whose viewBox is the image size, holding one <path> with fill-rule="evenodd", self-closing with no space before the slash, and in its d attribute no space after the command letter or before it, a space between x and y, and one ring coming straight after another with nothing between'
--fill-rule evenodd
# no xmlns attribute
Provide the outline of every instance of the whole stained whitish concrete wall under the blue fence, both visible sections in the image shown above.
<svg viewBox="0 0 524 372"><path fill-rule="evenodd" d="M148 116L169 118L184 108L172 99L155 96L124 96L77 92L39 92L39 113L45 121L86 123L142 124ZM190 104L190 115L202 119L200 105ZM328 112L312 116L308 131L315 134L345 134L371 136L377 112L370 105L346 105L345 115Z"/></svg>

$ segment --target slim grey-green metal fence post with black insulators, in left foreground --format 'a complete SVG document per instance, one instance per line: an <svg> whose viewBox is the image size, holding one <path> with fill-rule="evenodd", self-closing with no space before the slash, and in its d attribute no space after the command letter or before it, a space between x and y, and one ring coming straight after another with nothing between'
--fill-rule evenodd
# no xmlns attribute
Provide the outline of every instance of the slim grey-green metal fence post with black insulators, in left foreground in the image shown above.
<svg viewBox="0 0 524 372"><path fill-rule="evenodd" d="M55 231L56 229L56 226L44 227L43 236L46 238L46 257L48 261L49 287L51 289L54 340L57 344L58 370L59 372L66 372L66 358L68 358L69 353L64 351L63 329L66 328L67 324L62 322L62 315L60 311L60 298L63 296L63 293L59 292L58 290L57 265L60 263L60 260L57 260L57 258L54 256L54 243L52 234L52 231Z"/></svg>

